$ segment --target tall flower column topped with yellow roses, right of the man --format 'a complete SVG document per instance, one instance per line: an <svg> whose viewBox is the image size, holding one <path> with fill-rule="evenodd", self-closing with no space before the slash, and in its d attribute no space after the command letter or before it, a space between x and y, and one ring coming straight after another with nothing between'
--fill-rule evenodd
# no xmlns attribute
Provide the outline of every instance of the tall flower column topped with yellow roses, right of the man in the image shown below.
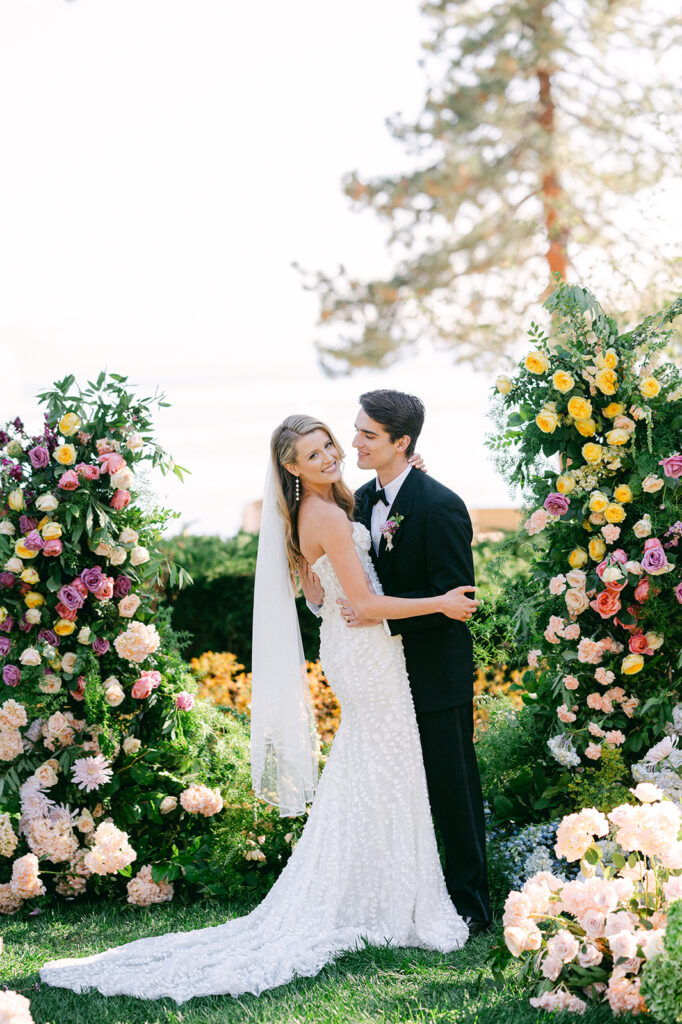
<svg viewBox="0 0 682 1024"><path fill-rule="evenodd" d="M532 325L534 350L498 380L488 443L523 490L540 624L524 683L543 783L510 800L556 814L604 752L625 778L680 698L682 375L666 346L682 299L629 331L578 286L546 305L553 337Z"/></svg>

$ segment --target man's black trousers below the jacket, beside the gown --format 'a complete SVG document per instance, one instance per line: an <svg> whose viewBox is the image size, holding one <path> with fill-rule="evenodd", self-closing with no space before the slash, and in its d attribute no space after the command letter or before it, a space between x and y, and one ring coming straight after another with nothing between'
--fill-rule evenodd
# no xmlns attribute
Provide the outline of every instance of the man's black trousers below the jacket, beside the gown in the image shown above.
<svg viewBox="0 0 682 1024"><path fill-rule="evenodd" d="M445 883L462 918L487 923L485 822L473 744L473 701L417 713L431 812L445 848Z"/></svg>

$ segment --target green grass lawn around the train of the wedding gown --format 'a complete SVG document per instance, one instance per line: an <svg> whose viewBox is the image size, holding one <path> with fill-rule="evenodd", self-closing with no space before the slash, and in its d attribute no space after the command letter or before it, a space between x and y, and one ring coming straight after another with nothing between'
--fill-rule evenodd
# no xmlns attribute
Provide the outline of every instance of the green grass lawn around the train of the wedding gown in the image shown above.
<svg viewBox="0 0 682 1024"><path fill-rule="evenodd" d="M316 978L302 979L260 997L211 996L178 1007L98 992L77 995L41 985L40 966L59 956L85 955L145 935L218 925L249 909L237 903L161 905L148 910L109 904L48 908L36 918L4 918L2 984L31 999L36 1024L609 1024L608 1008L583 1018L542 1014L528 1005L514 966L496 987L485 970L495 933L470 940L457 953L368 948L347 953ZM634 1018L632 1018L634 1020ZM619 1018L622 1024L631 1020Z"/></svg>

